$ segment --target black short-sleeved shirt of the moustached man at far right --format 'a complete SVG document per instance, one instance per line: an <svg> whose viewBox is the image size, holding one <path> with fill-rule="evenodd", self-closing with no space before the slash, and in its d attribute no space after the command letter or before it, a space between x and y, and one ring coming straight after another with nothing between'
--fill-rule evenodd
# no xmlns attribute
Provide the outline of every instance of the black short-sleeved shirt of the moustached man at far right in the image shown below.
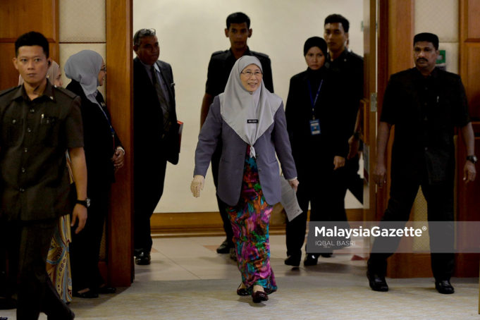
<svg viewBox="0 0 480 320"><path fill-rule="evenodd" d="M453 178L455 126L469 123L460 76L438 68L424 77L417 68L390 77L380 121L395 125L392 175L426 167L429 182Z"/></svg>

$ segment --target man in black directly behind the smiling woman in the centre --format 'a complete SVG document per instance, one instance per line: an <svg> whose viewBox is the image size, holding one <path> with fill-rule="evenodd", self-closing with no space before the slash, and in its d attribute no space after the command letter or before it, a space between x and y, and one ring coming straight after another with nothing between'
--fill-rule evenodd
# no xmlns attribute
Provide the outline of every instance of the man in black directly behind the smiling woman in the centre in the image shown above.
<svg viewBox="0 0 480 320"><path fill-rule="evenodd" d="M250 18L245 13L232 13L227 17L227 27L225 29L225 36L230 39L230 49L226 51L216 51L211 54L209 62L209 70L207 73L207 85L202 101L202 111L200 113L200 128L202 127L207 114L209 113L210 105L214 101L214 97L221 94L225 90L230 71L235 64L235 61L241 56L256 56L263 68L263 80L266 89L273 92L273 80L271 75L271 63L269 56L259 52L250 51L247 46L247 39L252 37L252 29L250 29ZM214 155L211 157L211 172L214 176L215 187L217 187L219 178L219 162L221 156L221 143ZM230 219L225 209L225 204L216 197L219 204L219 211L223 221L223 229L226 233L226 240L216 249L218 253L229 253L232 259L235 259L235 252L233 252L233 231L230 225Z"/></svg>

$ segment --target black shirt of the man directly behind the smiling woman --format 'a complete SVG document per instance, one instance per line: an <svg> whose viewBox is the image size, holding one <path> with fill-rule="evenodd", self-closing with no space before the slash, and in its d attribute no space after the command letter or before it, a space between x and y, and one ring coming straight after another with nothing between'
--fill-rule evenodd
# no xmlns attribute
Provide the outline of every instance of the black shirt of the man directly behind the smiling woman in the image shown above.
<svg viewBox="0 0 480 320"><path fill-rule="evenodd" d="M273 92L271 62L269 56L267 56L266 54L261 54L259 52L250 51L250 49L248 48L247 51L245 51L244 56L255 56L259 59L261 63L261 68L263 70L263 80L265 87L270 92ZM228 76L230 75L230 71L235 64L235 61L236 59L231 49L225 51L216 51L211 54L205 92L211 94L212 97L215 97L216 95L221 94L223 91L225 91Z"/></svg>

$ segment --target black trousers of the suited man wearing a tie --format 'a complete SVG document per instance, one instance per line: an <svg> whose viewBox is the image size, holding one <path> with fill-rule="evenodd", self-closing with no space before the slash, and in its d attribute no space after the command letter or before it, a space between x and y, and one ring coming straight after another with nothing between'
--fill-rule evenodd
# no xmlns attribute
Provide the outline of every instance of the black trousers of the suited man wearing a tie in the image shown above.
<svg viewBox="0 0 480 320"><path fill-rule="evenodd" d="M152 250L150 218L164 193L166 159L161 156L154 162L135 163L133 207L134 207L134 247L135 252ZM135 159L136 161L136 159ZM150 164L152 162L152 164Z"/></svg>

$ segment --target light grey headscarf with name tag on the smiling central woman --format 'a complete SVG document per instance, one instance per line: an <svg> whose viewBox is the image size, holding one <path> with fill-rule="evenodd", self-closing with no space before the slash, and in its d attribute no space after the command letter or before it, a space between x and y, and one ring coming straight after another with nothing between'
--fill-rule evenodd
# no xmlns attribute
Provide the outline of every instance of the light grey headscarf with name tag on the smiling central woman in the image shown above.
<svg viewBox="0 0 480 320"><path fill-rule="evenodd" d="M250 156L255 157L253 145L273 124L273 117L282 99L266 90L263 80L253 94L243 87L240 73L252 63L263 73L259 59L254 56L242 56L233 65L225 92L219 94L219 99L223 121L250 145Z"/></svg>

